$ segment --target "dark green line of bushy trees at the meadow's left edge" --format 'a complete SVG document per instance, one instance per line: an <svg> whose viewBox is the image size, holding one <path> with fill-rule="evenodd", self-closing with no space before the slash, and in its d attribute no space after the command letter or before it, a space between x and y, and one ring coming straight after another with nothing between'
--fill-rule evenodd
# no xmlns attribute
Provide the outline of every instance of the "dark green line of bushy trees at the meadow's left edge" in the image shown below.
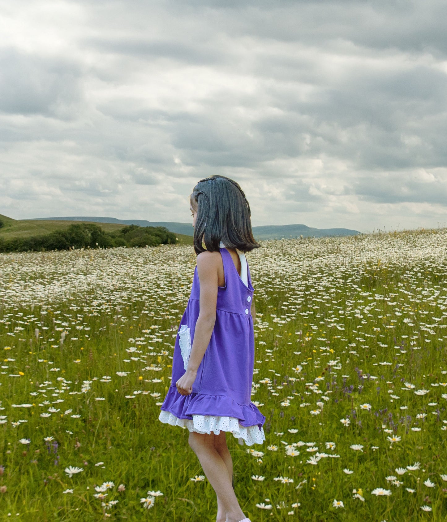
<svg viewBox="0 0 447 522"><path fill-rule="evenodd" d="M45 235L28 238L3 238L0 235L0 252L43 252L70 250L71 248L112 248L115 246L144 247L176 243L176 235L166 227L139 227L129 225L105 232L93 223L73 223Z"/></svg>

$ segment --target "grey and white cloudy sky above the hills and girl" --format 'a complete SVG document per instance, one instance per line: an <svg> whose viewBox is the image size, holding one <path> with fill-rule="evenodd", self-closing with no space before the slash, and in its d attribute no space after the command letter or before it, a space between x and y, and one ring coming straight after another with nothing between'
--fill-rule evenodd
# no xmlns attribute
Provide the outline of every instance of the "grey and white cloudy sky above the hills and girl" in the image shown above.
<svg viewBox="0 0 447 522"><path fill-rule="evenodd" d="M447 226L445 0L10 0L2 213Z"/></svg>

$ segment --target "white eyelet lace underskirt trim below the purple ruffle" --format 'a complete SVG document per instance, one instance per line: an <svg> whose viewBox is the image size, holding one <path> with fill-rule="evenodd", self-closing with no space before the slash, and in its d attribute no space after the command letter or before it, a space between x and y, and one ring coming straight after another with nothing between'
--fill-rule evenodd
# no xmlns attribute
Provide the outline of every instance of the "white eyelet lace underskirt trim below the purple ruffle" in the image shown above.
<svg viewBox="0 0 447 522"><path fill-rule="evenodd" d="M190 432L195 431L202 434L213 432L215 435L219 435L221 430L231 431L241 445L244 445L245 442L247 446L252 446L253 444L262 444L265 441L263 428L259 429L258 424L241 426L239 419L235 417L213 417L193 413L192 420L179 419L170 411L161 410L159 420L172 426L181 426L182 428L186 426Z"/></svg>

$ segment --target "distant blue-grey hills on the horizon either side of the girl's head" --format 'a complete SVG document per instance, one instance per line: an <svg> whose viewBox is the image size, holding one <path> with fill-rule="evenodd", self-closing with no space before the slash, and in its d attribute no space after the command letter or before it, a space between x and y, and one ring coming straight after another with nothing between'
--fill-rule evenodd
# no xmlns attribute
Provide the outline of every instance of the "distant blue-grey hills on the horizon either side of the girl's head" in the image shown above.
<svg viewBox="0 0 447 522"><path fill-rule="evenodd" d="M95 223L115 223L115 224L135 224L140 227L166 227L170 232L176 234L184 234L192 236L194 235L194 229L191 223L177 223L173 221L147 221L144 219L116 219L116 218L103 218L103 217L92 217L92 216L71 216L71 217L57 217L57 218L34 218L33 220L27 221L90 221ZM358 230L349 230L344 228L334 229L317 229L312 227L306 227L303 224L292 224L292 225L265 225L262 227L253 227L253 235L255 239L282 239L282 238L299 238L300 235L304 237L315 237L322 238L324 236L332 235L356 235L361 234Z"/></svg>

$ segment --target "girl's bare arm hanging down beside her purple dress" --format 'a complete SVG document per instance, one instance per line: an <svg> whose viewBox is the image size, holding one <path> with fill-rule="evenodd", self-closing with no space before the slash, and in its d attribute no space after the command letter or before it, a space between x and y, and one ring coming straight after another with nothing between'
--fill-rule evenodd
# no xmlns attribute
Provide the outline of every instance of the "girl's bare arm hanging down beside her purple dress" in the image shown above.
<svg viewBox="0 0 447 522"><path fill-rule="evenodd" d="M201 252L197 256L197 275L200 282L199 317L197 318L189 354L186 372L176 383L177 390L182 395L192 391L192 384L197 376L197 370L207 351L216 321L216 304L218 300L218 263L219 252Z"/></svg>

